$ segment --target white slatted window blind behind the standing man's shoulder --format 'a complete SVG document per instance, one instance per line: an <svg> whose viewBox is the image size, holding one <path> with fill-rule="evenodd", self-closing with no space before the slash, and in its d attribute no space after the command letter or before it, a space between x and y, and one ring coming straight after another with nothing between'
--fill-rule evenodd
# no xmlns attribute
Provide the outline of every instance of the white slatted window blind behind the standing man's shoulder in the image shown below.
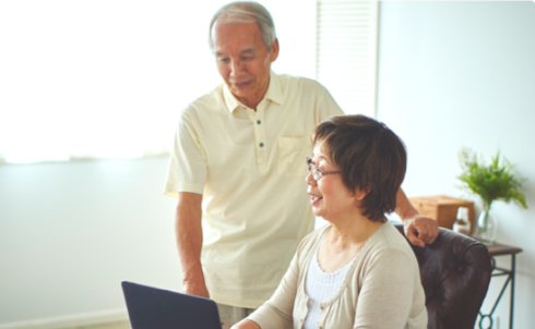
<svg viewBox="0 0 535 329"><path fill-rule="evenodd" d="M318 0L316 75L347 114L376 115L378 0Z"/></svg>

